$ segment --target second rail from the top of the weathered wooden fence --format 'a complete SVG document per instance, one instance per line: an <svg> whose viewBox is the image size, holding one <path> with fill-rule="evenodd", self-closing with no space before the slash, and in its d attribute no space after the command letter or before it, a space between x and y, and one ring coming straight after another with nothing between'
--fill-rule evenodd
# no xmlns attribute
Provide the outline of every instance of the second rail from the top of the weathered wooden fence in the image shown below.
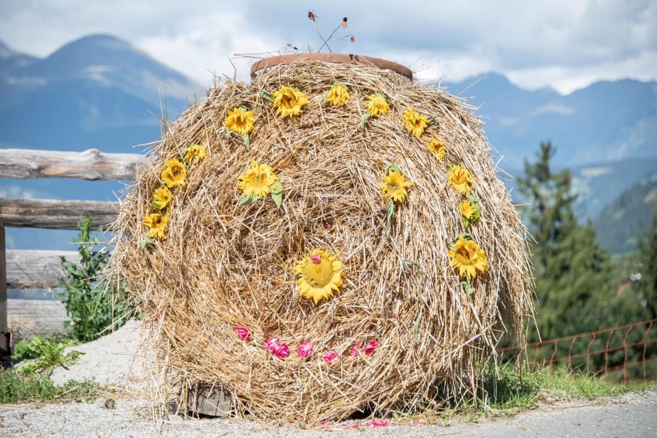
<svg viewBox="0 0 657 438"><path fill-rule="evenodd" d="M116 219L114 202L0 198L0 223L5 227L77 230L81 216L91 227L105 227Z"/></svg>

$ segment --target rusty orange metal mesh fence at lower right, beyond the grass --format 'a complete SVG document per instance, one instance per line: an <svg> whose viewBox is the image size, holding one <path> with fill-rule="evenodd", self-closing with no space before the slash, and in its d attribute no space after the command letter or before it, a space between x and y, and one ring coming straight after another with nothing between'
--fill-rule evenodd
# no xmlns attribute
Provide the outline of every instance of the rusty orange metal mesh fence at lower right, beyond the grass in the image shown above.
<svg viewBox="0 0 657 438"><path fill-rule="evenodd" d="M522 358L522 347L503 347L503 360ZM528 343L528 366L566 366L622 383L657 379L657 318L563 338Z"/></svg>

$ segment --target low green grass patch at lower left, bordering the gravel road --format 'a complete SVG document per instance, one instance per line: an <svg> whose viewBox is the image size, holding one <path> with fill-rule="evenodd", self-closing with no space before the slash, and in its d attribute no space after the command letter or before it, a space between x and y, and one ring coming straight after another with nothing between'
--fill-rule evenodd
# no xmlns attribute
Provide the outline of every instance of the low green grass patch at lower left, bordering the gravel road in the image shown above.
<svg viewBox="0 0 657 438"><path fill-rule="evenodd" d="M0 404L78 399L93 401L96 395L97 386L92 380L70 380L64 385L55 385L53 380L44 374L25 374L15 368L0 369Z"/></svg>

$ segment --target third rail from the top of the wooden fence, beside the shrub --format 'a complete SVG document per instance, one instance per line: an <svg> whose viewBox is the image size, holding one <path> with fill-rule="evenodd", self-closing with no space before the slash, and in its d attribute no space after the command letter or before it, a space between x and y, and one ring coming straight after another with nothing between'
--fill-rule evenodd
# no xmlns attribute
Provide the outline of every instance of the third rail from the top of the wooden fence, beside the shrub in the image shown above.
<svg viewBox="0 0 657 438"><path fill-rule="evenodd" d="M76 251L7 250L6 284L11 289L57 288L65 271L60 257L80 263Z"/></svg>

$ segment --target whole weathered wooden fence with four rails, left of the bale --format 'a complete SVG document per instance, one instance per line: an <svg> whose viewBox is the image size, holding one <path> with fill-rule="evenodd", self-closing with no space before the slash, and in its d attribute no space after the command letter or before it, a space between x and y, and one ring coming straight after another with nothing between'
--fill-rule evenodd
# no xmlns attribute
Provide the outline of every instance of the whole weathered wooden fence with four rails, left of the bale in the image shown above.
<svg viewBox="0 0 657 438"><path fill-rule="evenodd" d="M74 178L91 181L130 181L148 159L139 154L0 149L0 178ZM0 331L20 327L40 332L61 326L66 317L57 301L7 300L7 288L55 288L64 271L60 257L78 261L75 251L6 250L4 227L75 230L80 216L92 227L116 218L116 203L87 200L0 198Z"/></svg>

